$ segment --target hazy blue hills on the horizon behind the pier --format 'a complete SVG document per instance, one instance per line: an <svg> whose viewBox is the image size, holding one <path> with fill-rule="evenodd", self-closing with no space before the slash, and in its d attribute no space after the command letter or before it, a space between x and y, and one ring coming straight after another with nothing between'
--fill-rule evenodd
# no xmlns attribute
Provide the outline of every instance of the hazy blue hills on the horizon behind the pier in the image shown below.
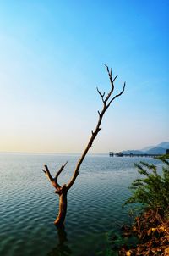
<svg viewBox="0 0 169 256"><path fill-rule="evenodd" d="M144 147L141 150L124 150L123 153L134 153L134 154L144 154L144 153L148 153L148 154L165 154L166 153L166 149L169 149L169 142L161 142L160 144L156 145L156 146L148 146L148 147Z"/></svg>

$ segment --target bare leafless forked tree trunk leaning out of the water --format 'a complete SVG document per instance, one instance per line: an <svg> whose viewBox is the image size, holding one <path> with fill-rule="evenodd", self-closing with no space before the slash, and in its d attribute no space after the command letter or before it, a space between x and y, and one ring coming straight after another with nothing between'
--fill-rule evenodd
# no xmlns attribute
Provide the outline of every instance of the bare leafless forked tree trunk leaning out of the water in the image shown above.
<svg viewBox="0 0 169 256"><path fill-rule="evenodd" d="M108 73L108 76L109 76L109 80L111 82L111 89L108 92L108 94L105 96L105 92L101 93L99 91L99 89L97 88L97 92L101 96L101 101L103 103L103 107L101 109L101 112L98 111L99 118L98 118L97 124L95 125L95 130L91 131L91 136L90 136L90 140L87 144L87 147L85 147L85 151L81 154L81 157L79 158L79 161L76 164L74 174L73 174L72 178L70 179L70 181L68 182L68 184L63 184L63 186L60 186L57 182L58 176L64 170L64 167L66 166L66 164L68 162L66 162L65 164L63 164L63 166L61 166L60 170L57 171L57 174L54 178L52 177L50 171L48 170L47 165L44 165L45 170L43 170L43 171L44 171L46 177L49 179L49 181L51 181L52 186L55 187L55 189L56 189L55 192L59 196L59 212L58 212L58 215L57 215L57 219L54 221L54 224L57 227L62 227L63 224L64 224L64 220L65 220L66 213L67 213L67 194L68 194L68 190L71 188L71 186L74 185L74 181L76 180L77 176L79 175L80 165L84 161L85 156L88 153L90 147L92 147L92 144L95 140L95 137L97 136L99 131L101 131L101 120L102 120L104 114L106 113L106 109L108 109L110 107L111 103L117 97L119 97L123 94L124 89L125 89L125 82L124 82L123 90L119 94L116 94L115 96L113 96L112 94L114 92L114 81L117 79L117 75L114 78L112 78L112 69L109 70L108 66L106 66L106 70L107 70L107 73Z"/></svg>

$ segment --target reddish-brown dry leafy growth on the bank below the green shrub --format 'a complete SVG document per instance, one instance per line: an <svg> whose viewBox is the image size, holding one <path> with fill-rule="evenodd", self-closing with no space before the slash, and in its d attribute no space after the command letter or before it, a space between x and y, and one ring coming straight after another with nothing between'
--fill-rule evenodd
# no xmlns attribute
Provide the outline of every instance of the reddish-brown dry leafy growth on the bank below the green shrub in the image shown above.
<svg viewBox="0 0 169 256"><path fill-rule="evenodd" d="M169 255L169 220L161 209L149 209L135 219L132 227L124 227L123 237L133 236L139 239L137 246L123 245L119 255Z"/></svg>

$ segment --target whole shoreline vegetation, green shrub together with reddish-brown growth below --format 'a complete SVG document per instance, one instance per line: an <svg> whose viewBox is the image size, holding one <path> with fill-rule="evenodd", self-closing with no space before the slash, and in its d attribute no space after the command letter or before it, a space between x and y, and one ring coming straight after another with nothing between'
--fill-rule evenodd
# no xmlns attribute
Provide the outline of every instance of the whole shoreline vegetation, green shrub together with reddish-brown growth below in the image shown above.
<svg viewBox="0 0 169 256"><path fill-rule="evenodd" d="M119 255L169 255L169 161L166 159L166 156L161 158L160 174L154 164L135 164L140 178L133 181L132 196L125 204L139 203L143 211L135 218L134 225L123 227L123 240L127 242L123 243ZM133 246L128 243L131 237L137 239Z"/></svg>

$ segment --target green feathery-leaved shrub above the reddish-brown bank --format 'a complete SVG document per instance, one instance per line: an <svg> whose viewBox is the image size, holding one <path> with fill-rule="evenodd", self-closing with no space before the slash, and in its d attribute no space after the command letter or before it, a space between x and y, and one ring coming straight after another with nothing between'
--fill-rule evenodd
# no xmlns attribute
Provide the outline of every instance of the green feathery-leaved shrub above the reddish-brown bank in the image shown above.
<svg viewBox="0 0 169 256"><path fill-rule="evenodd" d="M129 188L133 194L127 203L142 203L146 209L162 209L169 212L169 162L161 159L164 166L161 175L154 164L135 164L141 177L133 181Z"/></svg>

